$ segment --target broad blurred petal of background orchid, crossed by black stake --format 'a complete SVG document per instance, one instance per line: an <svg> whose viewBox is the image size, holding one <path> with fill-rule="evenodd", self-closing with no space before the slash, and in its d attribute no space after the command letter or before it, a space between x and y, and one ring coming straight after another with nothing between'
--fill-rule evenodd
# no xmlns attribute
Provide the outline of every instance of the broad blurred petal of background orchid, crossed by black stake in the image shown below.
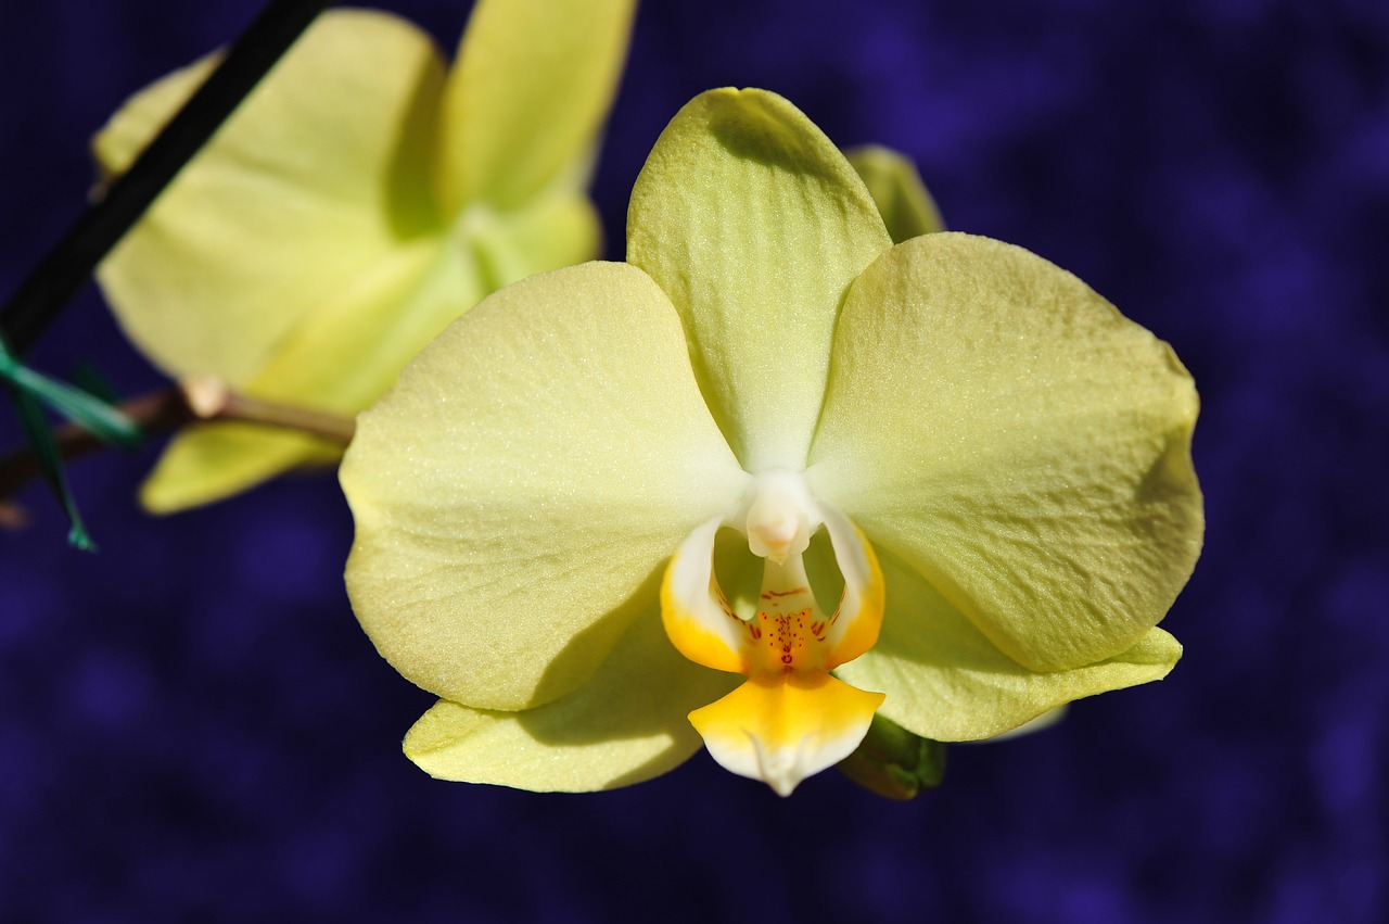
<svg viewBox="0 0 1389 924"><path fill-rule="evenodd" d="M194 81L181 72L118 113L96 142L107 167ZM103 263L129 336L174 375L246 385L365 268L436 233L428 157L442 86L414 26L324 14Z"/></svg>

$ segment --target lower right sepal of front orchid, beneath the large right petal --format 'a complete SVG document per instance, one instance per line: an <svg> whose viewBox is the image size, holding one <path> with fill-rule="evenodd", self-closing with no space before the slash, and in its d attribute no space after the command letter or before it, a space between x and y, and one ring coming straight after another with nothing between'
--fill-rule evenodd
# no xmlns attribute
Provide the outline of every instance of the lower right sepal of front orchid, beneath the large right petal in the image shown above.
<svg viewBox="0 0 1389 924"><path fill-rule="evenodd" d="M936 741L975 741L1018 728L1083 696L1167 677L1182 646L1151 628L1128 650L1068 671L1029 671L989 642L901 561L883 554L888 613L878 645L835 671L886 692L879 710Z"/></svg>

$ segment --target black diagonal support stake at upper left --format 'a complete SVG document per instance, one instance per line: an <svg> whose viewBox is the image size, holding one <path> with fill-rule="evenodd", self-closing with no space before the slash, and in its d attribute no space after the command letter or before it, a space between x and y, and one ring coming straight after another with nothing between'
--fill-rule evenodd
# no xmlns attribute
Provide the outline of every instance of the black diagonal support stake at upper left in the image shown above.
<svg viewBox="0 0 1389 924"><path fill-rule="evenodd" d="M139 221L257 82L332 0L271 0L193 99L90 204L0 308L0 332L24 354L86 283L97 263Z"/></svg>

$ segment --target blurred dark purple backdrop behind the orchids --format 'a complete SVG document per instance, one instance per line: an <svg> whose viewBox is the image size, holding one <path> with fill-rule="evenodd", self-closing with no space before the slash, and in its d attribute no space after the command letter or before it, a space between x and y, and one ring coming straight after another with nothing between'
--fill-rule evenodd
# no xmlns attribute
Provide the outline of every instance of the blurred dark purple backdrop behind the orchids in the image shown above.
<svg viewBox="0 0 1389 924"><path fill-rule="evenodd" d="M7 3L0 295L76 214L86 139L250 0ZM388 7L453 46L468 4ZM333 479L151 520L153 450L0 535L4 921L1382 921L1389 917L1389 6L653 0L596 195L710 86L921 165L956 229L1076 272L1203 397L1207 547L1163 684L954 748L943 789L781 800L699 756L539 796L399 752L431 696L347 607ZM35 352L160 377L89 290ZM0 414L0 438L17 439Z"/></svg>

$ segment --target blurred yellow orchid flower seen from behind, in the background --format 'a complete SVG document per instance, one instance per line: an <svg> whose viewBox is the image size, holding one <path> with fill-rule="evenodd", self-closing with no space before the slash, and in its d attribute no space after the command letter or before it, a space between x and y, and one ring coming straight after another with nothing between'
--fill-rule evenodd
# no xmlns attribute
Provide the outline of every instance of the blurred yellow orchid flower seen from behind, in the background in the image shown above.
<svg viewBox="0 0 1389 924"><path fill-rule="evenodd" d="M356 414L486 293L599 254L585 196L635 0L479 0L451 69L414 25L325 13L100 268L169 375ZM118 174L207 76L135 96L96 138ZM249 424L174 439L171 511L340 449Z"/></svg>

